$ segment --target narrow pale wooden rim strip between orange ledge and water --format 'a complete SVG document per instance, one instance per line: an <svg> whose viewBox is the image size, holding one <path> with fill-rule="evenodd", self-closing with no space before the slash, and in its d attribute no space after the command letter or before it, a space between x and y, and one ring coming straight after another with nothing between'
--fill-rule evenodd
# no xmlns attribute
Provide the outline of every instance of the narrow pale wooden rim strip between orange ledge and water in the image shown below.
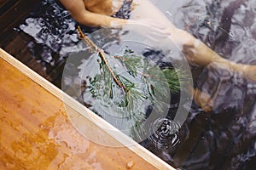
<svg viewBox="0 0 256 170"><path fill-rule="evenodd" d="M41 87L46 89L50 94L55 95L57 99L60 99L62 102L65 102L65 105L72 108L74 111L79 112L81 116L88 118L92 123L102 129L105 133L108 133L109 136L116 139L121 144L129 144L127 147L129 150L136 153L138 156L142 157L145 161L148 161L149 164L153 165L157 169L171 169L175 170L174 167L166 163L166 161L161 160L158 156L155 156L152 152L145 149L140 144L137 144L133 139L125 135L125 133L120 132L117 128L113 127L111 124L103 120L100 116L97 116L95 113L81 105L78 101L65 94L61 89L56 88L51 82L44 79L28 68L26 65L22 64L19 60L15 59L12 55L5 52L0 48L0 58L7 61L10 65L13 65L17 70L32 79L33 82L38 83ZM64 99L65 98L65 99ZM104 128L103 128L104 127ZM105 129L108 129L106 131Z"/></svg>

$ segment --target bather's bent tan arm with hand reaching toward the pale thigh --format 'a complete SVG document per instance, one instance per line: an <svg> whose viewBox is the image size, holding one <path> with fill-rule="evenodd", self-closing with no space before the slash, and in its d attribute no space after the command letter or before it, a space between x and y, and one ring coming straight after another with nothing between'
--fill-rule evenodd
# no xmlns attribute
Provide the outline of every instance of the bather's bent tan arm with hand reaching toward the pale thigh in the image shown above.
<svg viewBox="0 0 256 170"><path fill-rule="evenodd" d="M61 0L61 3L67 8L73 19L84 26L118 27L126 23L126 20L91 13L84 7L83 0Z"/></svg>

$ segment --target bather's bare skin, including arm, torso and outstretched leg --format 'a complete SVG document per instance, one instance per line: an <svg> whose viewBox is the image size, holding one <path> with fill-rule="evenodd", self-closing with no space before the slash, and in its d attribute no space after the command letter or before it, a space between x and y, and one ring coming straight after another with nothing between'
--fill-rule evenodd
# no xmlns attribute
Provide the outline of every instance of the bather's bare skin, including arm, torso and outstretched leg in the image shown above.
<svg viewBox="0 0 256 170"><path fill-rule="evenodd" d="M190 64L208 65L217 62L231 71L241 73L247 79L256 81L256 65L242 65L220 57L187 31L176 28L166 16L149 0L133 0L131 17L123 20L111 17L113 1L119 0L61 0L75 20L84 26L122 27L129 24L147 25L159 29L183 50ZM197 91L197 96L199 92ZM200 103L200 101L199 101Z"/></svg>

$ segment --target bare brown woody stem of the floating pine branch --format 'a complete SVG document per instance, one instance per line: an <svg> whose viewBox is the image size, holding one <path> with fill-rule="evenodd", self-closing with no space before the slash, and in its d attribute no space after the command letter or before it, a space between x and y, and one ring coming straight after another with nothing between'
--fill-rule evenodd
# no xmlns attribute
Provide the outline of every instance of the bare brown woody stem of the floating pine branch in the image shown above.
<svg viewBox="0 0 256 170"><path fill-rule="evenodd" d="M119 86L119 88L123 88L126 91L126 87L124 84L122 84L121 82L119 82L119 79L115 76L113 70L111 69L111 67L108 65L108 60L106 59L106 57L104 56L104 52L101 48L98 48L96 46L96 44L94 42L92 42L90 40L89 37L86 37L84 35L84 32L81 30L80 26L78 26L77 32L79 34L79 38L81 40L83 40L83 42L85 43L85 45L90 48L90 52L96 52L99 53L99 56L101 57L103 63L107 66L108 71L110 72L111 76L113 77L113 81Z"/></svg>

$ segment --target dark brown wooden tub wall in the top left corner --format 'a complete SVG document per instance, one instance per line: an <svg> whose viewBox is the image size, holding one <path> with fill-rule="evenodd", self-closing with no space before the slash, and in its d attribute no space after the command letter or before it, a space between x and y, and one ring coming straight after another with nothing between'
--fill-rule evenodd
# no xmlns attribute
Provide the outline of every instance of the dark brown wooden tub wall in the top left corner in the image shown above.
<svg viewBox="0 0 256 170"><path fill-rule="evenodd" d="M44 65L36 59L30 48L29 43L34 42L33 37L19 29L20 24L25 23L32 10L40 7L40 5L42 5L40 0L5 0L0 2L0 47L52 82L53 78L50 77L50 72L46 71ZM56 68L55 72L57 71Z"/></svg>

